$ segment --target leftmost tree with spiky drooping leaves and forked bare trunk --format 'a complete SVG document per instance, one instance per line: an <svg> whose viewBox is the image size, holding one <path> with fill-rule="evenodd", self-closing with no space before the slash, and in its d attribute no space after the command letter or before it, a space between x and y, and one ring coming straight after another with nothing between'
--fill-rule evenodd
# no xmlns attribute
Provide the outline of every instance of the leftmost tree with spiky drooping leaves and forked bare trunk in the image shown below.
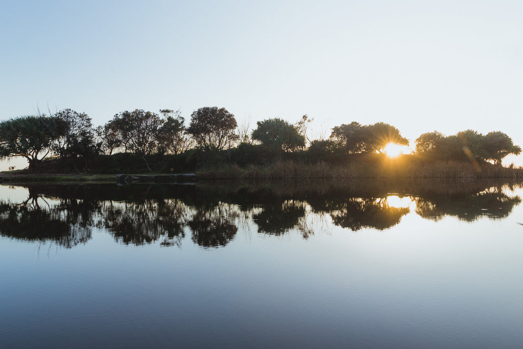
<svg viewBox="0 0 523 349"><path fill-rule="evenodd" d="M51 151L53 141L62 136L60 120L48 116L25 116L0 122L0 160L22 156L29 172ZM44 153L41 155L41 153Z"/></svg>

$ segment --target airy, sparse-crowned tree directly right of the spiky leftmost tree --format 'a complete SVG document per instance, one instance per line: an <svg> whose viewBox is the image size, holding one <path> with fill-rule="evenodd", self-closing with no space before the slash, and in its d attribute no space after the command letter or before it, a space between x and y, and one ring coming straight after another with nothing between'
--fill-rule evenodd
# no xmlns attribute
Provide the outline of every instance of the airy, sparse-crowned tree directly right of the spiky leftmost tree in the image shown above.
<svg viewBox="0 0 523 349"><path fill-rule="evenodd" d="M60 137L51 146L60 157L92 157L100 153L101 143L96 143L91 118L85 113L64 109L54 114Z"/></svg>

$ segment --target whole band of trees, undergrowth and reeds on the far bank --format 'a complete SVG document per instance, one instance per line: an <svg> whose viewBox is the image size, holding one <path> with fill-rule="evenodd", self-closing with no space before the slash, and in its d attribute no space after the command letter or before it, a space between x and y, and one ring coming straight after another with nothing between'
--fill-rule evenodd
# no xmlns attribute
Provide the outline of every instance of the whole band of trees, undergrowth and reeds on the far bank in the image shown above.
<svg viewBox="0 0 523 349"><path fill-rule="evenodd" d="M85 113L72 109L49 114L0 122L0 159L25 157L29 173L143 170L207 171L209 176L213 172L215 176L244 177L372 177L384 172L412 176L420 171L430 176L430 171L446 166L450 170L444 175L456 176L451 172L465 171L460 166L505 175L492 168L502 167L505 156L521 152L501 131L483 135L465 130L451 136L434 131L420 135L413 154L392 165L384 156L385 147L408 145L408 140L384 122L361 125L354 121L334 127L326 139L310 139L307 127L311 120L306 115L296 123L265 119L249 131L238 127L228 110L218 107L195 110L187 127L179 112L171 109L159 114L122 111L96 128ZM445 166L433 166L442 162ZM275 174L277 166L287 168L287 173Z"/></svg>

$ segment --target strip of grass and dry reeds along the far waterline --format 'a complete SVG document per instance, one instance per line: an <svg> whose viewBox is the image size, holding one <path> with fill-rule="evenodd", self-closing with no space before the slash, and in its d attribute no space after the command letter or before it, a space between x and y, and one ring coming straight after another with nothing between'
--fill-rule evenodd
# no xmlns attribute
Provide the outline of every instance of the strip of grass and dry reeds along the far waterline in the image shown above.
<svg viewBox="0 0 523 349"><path fill-rule="evenodd" d="M129 156L128 156L129 157ZM126 158L127 159L127 158ZM282 178L321 178L321 179L356 179L356 178L508 178L523 179L523 168L496 166L491 163L473 163L464 161L423 161L418 157L403 155L396 159L386 156L356 157L349 161L317 161L305 162L296 160L280 160L272 164L239 166L234 163L222 165L211 164L195 171L202 179L282 179ZM63 182L63 183L98 183L113 182L116 174L103 174L98 168L97 173L87 174L46 174L30 175L10 171L0 173L1 181L16 182ZM116 167L110 167L116 170ZM137 174L140 171L130 171L120 168L119 173ZM174 170L174 168L172 168ZM101 172L101 174L100 174ZM107 171L109 172L109 171ZM110 171L113 172L113 171ZM178 171L176 171L178 172ZM185 172L180 169L180 172ZM141 174L155 175L161 172L145 172Z"/></svg>

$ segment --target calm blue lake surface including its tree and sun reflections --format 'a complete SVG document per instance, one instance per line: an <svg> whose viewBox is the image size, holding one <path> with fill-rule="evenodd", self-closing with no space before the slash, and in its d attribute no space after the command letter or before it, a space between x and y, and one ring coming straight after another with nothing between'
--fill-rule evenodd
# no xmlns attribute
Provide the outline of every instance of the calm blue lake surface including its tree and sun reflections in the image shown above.
<svg viewBox="0 0 523 349"><path fill-rule="evenodd" d="M0 186L2 347L521 347L522 185Z"/></svg>

